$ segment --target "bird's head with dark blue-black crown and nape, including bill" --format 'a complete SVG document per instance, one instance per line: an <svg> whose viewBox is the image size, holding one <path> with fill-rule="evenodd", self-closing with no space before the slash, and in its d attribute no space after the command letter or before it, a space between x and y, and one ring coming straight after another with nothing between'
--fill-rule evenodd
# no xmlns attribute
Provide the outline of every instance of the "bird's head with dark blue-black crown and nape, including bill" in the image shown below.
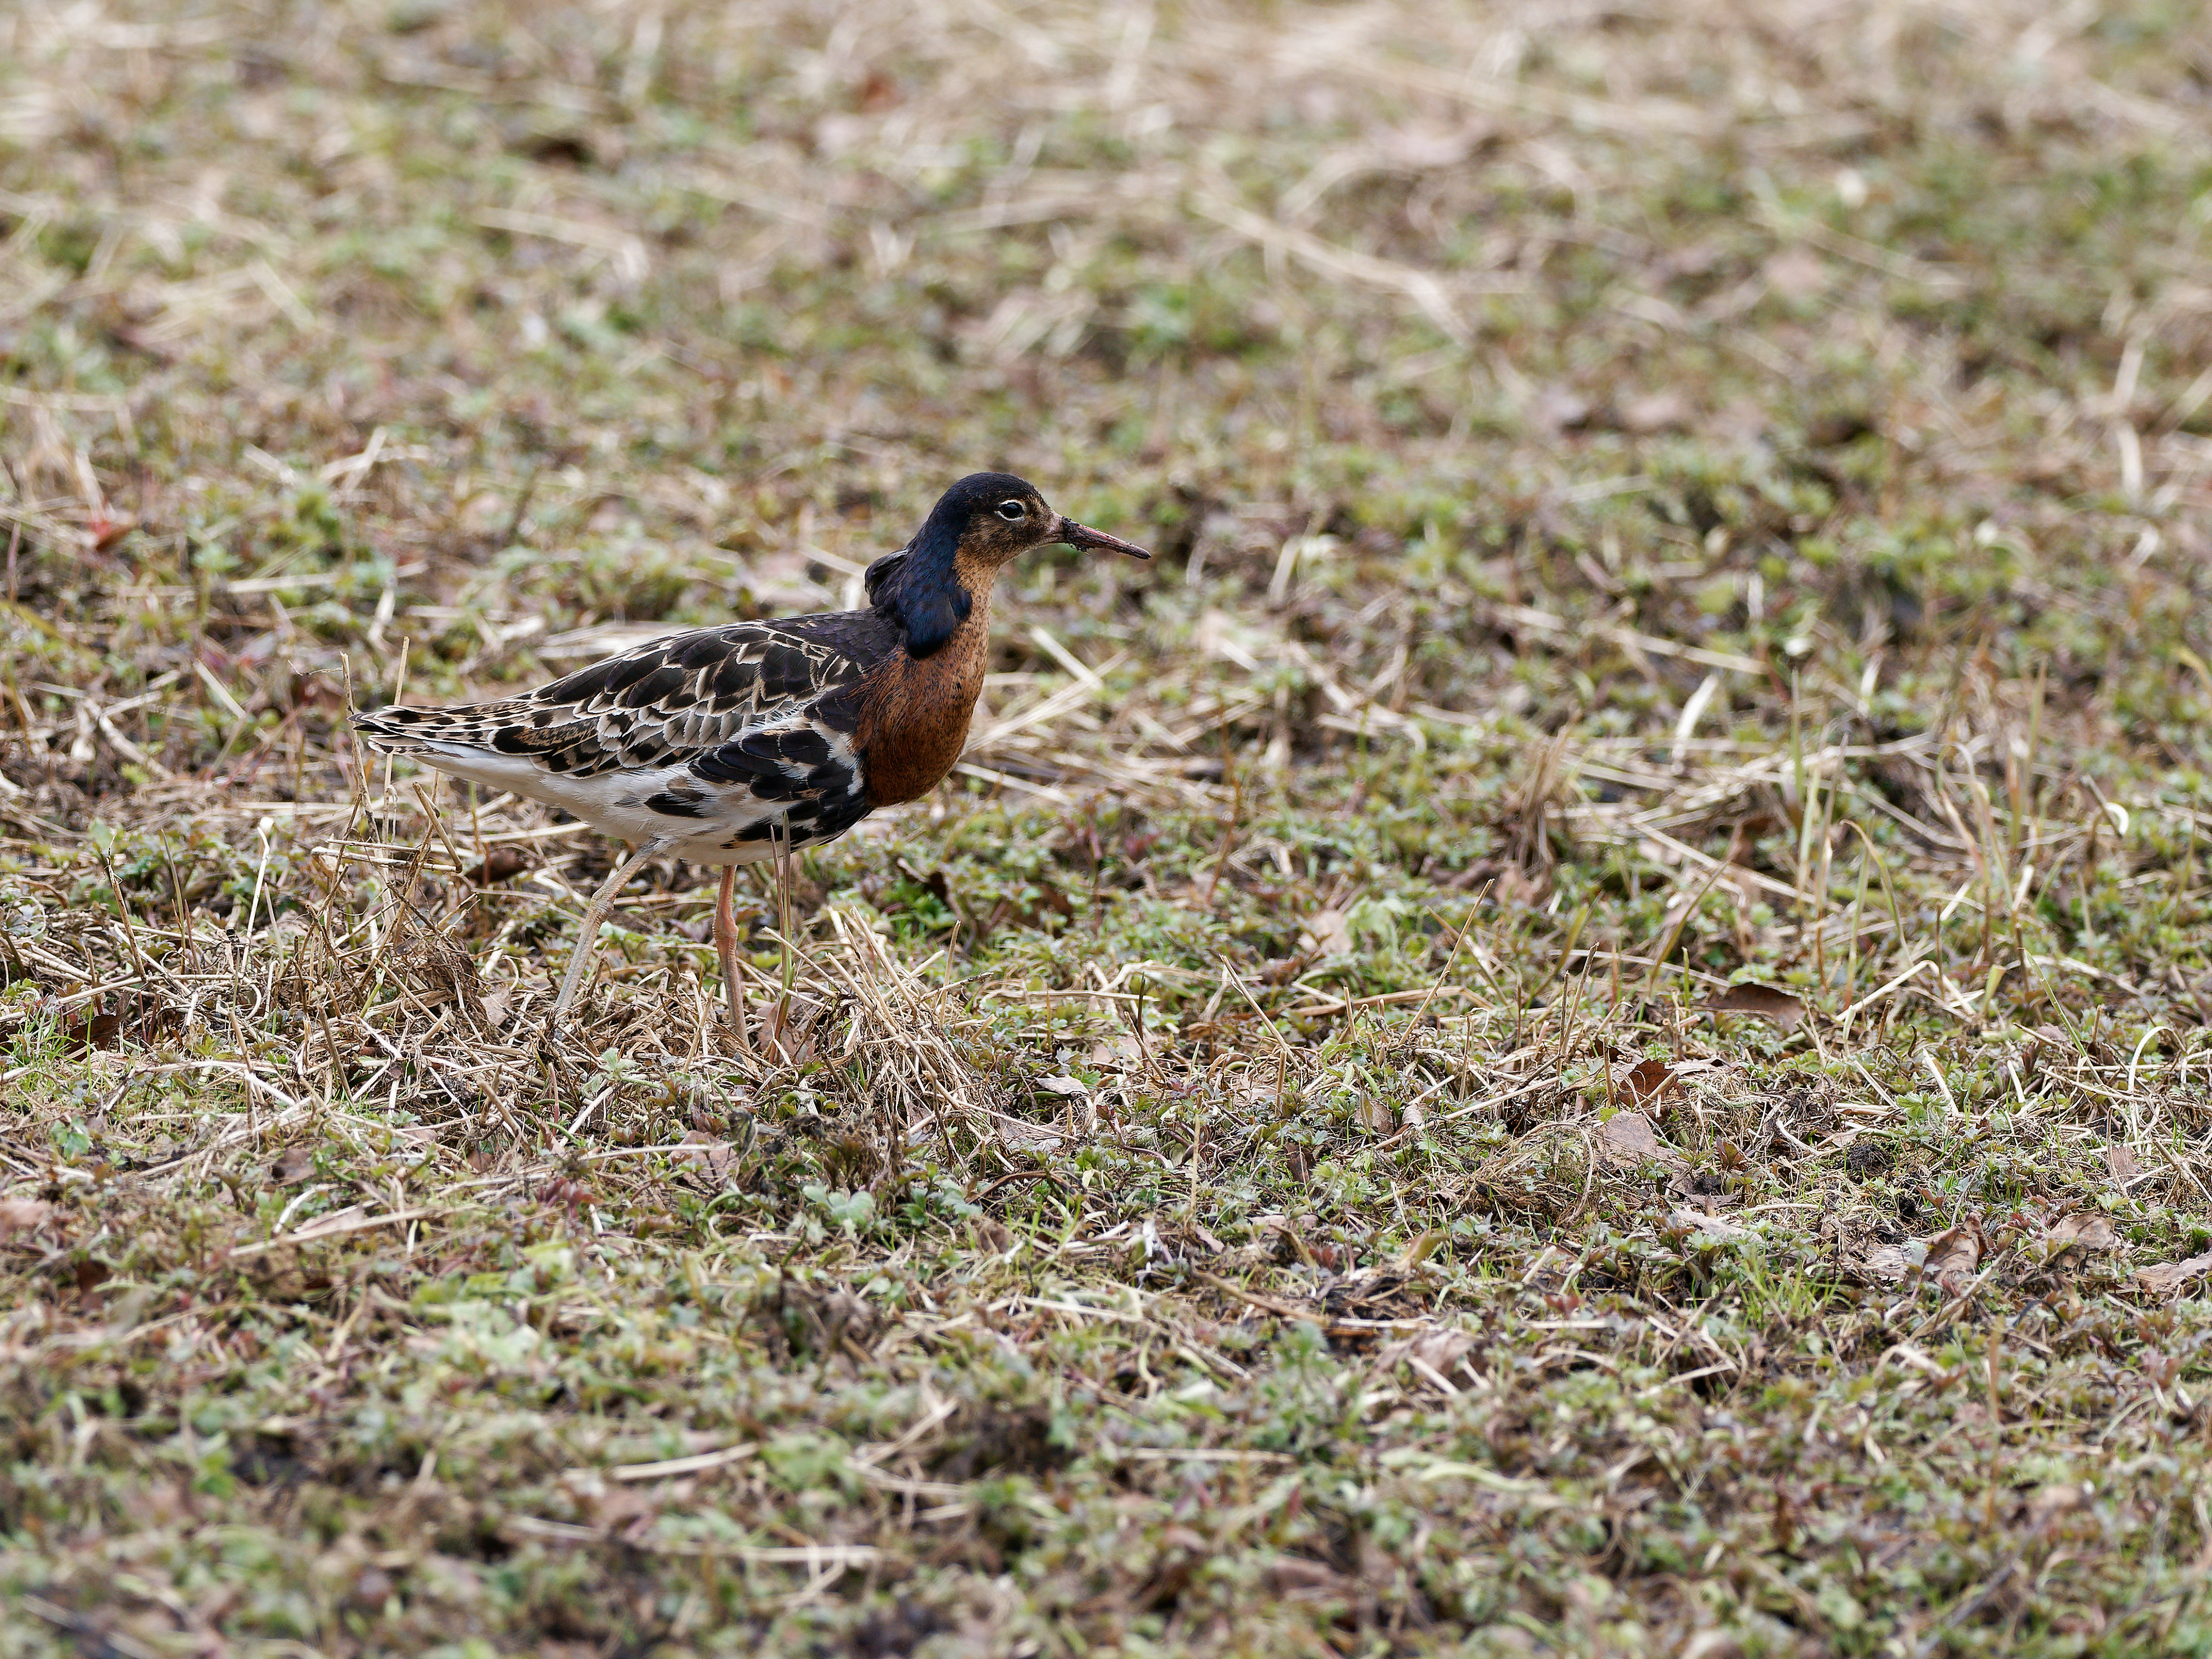
<svg viewBox="0 0 2212 1659"><path fill-rule="evenodd" d="M867 597L894 611L907 628L907 650L927 657L951 639L1000 566L1048 542L1152 557L1135 542L1055 513L1035 484L1013 473L969 473L938 495L905 549L867 568Z"/></svg>

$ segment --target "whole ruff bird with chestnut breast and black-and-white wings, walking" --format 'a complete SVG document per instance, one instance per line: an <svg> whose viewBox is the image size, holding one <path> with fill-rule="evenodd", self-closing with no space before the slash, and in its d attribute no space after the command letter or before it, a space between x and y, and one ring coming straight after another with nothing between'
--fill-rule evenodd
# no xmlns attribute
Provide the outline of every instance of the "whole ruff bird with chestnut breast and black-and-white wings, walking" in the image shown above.
<svg viewBox="0 0 2212 1659"><path fill-rule="evenodd" d="M991 591L1053 542L1150 560L1044 504L1013 473L969 473L902 549L867 566L863 611L732 622L653 639L524 697L356 712L380 754L542 801L633 843L584 909L546 1022L560 1031L599 922L648 858L721 869L714 949L745 1040L730 909L739 865L836 841L933 790L967 745Z"/></svg>

